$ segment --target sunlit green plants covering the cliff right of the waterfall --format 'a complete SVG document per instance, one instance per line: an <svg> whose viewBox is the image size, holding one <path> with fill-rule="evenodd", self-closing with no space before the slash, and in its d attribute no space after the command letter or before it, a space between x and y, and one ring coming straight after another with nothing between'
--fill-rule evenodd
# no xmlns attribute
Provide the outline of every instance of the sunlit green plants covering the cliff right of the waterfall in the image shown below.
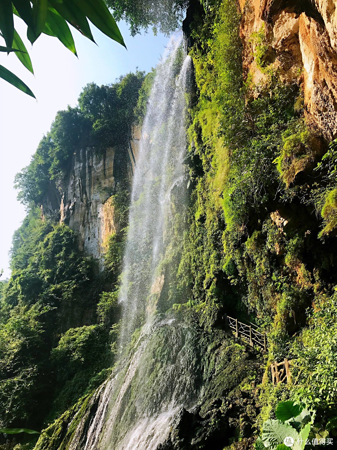
<svg viewBox="0 0 337 450"><path fill-rule="evenodd" d="M236 5L204 2L204 10L191 25L198 101L176 280L176 298L184 299L177 303L186 303L175 308L193 308L206 329L223 312L267 329L268 360L292 359L294 377L273 389L266 360L257 426L290 398L316 410L314 430L323 436L336 428L335 142L328 149L306 124L297 85L278 83L263 27L251 36L253 57L268 75L257 89L249 75L242 78Z"/></svg>

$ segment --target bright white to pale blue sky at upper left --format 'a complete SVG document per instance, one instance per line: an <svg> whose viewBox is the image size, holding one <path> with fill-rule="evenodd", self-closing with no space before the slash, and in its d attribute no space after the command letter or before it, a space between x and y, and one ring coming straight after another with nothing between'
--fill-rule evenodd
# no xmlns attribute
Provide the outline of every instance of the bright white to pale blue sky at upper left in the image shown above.
<svg viewBox="0 0 337 450"><path fill-rule="evenodd" d="M0 79L0 270L2 279L10 275L8 252L15 229L20 226L25 211L16 200L14 175L29 164L31 155L49 130L55 114L67 105L75 106L84 85L94 81L107 84L127 72L149 72L158 62L168 38L158 33L131 37L126 23L119 23L128 50L91 27L98 45L72 28L79 59L61 42L42 35L31 48L25 26L16 18L15 27L24 40L34 68L33 76L14 54L0 53L0 64L18 75L34 92L37 101ZM3 45L2 43L0 45Z"/></svg>

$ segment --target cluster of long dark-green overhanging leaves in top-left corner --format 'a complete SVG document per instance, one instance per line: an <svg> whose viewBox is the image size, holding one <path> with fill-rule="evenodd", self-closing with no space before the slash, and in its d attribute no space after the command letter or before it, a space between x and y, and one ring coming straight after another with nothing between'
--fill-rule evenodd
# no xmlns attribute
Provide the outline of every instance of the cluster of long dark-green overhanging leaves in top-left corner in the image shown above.
<svg viewBox="0 0 337 450"><path fill-rule="evenodd" d="M31 44L41 35L57 37L76 56L74 39L68 23L85 37L93 40L88 19L112 40L124 45L120 30L103 0L0 0L0 36L4 46L0 52L15 52L22 64L31 72L31 58L22 39L14 29L13 16L16 15L27 25L27 37ZM0 65L0 78L8 81L35 98L29 87L13 72Z"/></svg>

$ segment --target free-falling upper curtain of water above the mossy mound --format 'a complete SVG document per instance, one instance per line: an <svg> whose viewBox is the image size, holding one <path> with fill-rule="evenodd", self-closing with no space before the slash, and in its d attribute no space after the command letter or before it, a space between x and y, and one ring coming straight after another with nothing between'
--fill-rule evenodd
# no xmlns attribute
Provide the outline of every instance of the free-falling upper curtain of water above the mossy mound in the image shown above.
<svg viewBox="0 0 337 450"><path fill-rule="evenodd" d="M191 58L183 52L181 33L173 36L156 68L133 180L120 295L127 319L124 342L155 309L150 294L163 251L169 194L184 176L184 92L190 65Z"/></svg>

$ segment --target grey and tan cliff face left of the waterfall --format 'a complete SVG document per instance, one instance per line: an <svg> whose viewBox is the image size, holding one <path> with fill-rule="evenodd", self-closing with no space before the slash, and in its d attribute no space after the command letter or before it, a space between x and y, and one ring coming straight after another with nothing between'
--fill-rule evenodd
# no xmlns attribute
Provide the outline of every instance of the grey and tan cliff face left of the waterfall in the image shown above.
<svg viewBox="0 0 337 450"><path fill-rule="evenodd" d="M118 227L111 195L129 189L140 137L141 130L134 127L128 148L76 150L66 175L50 186L42 202L42 214L59 214L78 233L80 250L100 264L107 239Z"/></svg>

